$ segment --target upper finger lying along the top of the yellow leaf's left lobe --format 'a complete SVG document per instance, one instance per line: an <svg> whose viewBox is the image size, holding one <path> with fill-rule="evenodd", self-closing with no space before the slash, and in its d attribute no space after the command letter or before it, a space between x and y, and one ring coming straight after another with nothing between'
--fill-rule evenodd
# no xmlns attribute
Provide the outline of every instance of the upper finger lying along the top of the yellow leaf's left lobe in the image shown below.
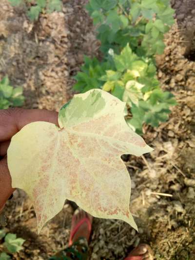
<svg viewBox="0 0 195 260"><path fill-rule="evenodd" d="M0 141L10 140L24 125L35 121L51 122L58 125L58 113L44 109L10 108L0 110Z"/></svg>

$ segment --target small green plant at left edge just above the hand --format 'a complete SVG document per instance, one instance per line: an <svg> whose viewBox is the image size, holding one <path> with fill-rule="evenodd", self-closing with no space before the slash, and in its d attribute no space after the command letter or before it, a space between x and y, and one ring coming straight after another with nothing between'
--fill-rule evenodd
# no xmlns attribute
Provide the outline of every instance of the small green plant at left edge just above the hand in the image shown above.
<svg viewBox="0 0 195 260"><path fill-rule="evenodd" d="M0 81L0 109L7 109L10 106L22 106L24 97L22 87L12 87L8 77Z"/></svg>

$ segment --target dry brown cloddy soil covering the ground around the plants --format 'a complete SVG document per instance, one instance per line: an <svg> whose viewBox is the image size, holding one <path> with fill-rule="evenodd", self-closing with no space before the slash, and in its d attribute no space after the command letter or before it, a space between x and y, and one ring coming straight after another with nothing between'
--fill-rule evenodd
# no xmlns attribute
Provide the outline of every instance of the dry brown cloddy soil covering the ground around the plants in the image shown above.
<svg viewBox="0 0 195 260"><path fill-rule="evenodd" d="M86 2L63 0L62 12L30 23L23 8L0 1L0 77L7 74L12 85L24 88L25 108L58 111L73 97L72 76L83 55L97 55L99 47ZM151 245L156 260L195 259L195 0L172 5L176 23L156 63L162 88L178 105L158 128L144 126L143 138L155 148L151 154L122 157L139 233L120 220L94 219L90 260L122 260L140 242ZM46 260L67 246L73 212L65 204L38 236L32 204L17 190L5 208L5 229L26 241L12 259Z"/></svg>

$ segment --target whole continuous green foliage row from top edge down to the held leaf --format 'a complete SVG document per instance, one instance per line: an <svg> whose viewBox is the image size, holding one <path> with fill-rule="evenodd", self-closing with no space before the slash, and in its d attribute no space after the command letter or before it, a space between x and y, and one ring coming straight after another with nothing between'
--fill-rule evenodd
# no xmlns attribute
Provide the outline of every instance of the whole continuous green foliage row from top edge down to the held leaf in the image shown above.
<svg viewBox="0 0 195 260"><path fill-rule="evenodd" d="M74 89L102 88L125 101L132 114L127 123L139 134L143 123L166 121L176 101L160 89L155 55L163 53L164 34L174 23L169 0L89 0L86 9L104 58L85 58Z"/></svg>

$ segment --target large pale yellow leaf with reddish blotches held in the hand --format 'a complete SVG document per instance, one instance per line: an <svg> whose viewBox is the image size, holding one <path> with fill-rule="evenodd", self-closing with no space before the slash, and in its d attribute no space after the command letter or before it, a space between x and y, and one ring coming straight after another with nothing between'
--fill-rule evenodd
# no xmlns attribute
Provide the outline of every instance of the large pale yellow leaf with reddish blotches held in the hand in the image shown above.
<svg viewBox="0 0 195 260"><path fill-rule="evenodd" d="M120 156L153 149L130 130L124 108L116 97L93 89L61 108L59 127L33 122L12 138L12 187L33 201L39 231L65 199L95 217L124 220L137 229L129 210L131 180Z"/></svg>

